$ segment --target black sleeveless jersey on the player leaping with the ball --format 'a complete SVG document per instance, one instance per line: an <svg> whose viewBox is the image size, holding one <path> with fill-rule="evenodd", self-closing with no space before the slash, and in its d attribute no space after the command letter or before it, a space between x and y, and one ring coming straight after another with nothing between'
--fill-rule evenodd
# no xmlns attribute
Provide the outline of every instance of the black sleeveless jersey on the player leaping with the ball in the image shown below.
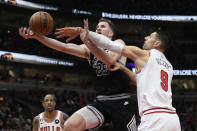
<svg viewBox="0 0 197 131"><path fill-rule="evenodd" d="M94 87L97 95L130 93L130 79L123 71L107 70L106 64L92 53L90 53L90 66L95 76Z"/></svg>

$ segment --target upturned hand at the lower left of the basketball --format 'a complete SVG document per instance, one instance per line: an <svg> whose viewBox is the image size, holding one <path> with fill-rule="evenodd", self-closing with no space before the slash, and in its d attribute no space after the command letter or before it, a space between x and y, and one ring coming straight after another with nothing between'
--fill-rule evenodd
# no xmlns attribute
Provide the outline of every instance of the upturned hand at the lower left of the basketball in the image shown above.
<svg viewBox="0 0 197 131"><path fill-rule="evenodd" d="M19 34L25 39L31 39L31 38L36 38L38 35L36 33L33 33L30 28L26 27L21 27L19 28Z"/></svg>

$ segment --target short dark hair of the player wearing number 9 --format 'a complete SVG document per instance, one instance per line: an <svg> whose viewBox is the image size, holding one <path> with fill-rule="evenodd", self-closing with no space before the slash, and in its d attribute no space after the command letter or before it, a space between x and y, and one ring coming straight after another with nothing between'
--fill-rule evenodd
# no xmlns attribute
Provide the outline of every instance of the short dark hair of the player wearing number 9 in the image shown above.
<svg viewBox="0 0 197 131"><path fill-rule="evenodd" d="M162 30L157 30L156 33L157 33L156 37L162 42L162 48L164 50L168 49L172 44L172 39L170 34Z"/></svg>

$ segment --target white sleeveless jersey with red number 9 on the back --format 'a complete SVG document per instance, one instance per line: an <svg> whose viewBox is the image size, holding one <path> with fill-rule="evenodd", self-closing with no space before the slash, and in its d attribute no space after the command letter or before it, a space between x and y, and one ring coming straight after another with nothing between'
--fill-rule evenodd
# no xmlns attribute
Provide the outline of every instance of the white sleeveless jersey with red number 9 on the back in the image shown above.
<svg viewBox="0 0 197 131"><path fill-rule="evenodd" d="M150 50L145 67L136 74L139 114L176 113L172 107L173 67L159 50Z"/></svg>

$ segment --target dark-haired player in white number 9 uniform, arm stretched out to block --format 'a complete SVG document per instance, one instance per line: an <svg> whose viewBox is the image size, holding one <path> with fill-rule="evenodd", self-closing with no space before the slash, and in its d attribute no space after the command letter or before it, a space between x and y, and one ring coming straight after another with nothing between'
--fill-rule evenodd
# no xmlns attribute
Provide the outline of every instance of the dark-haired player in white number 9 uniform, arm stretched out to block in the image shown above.
<svg viewBox="0 0 197 131"><path fill-rule="evenodd" d="M81 29L78 32L80 35L86 32L86 37L83 38L85 44L91 41L95 46L116 52L134 61L137 69L137 96L141 116L138 131L181 131L179 117L172 106L173 67L164 55L170 44L168 35L162 31L153 32L145 37L143 49L140 49L113 42L105 36L88 31L87 21L84 22L84 28L85 30ZM78 33L74 28L73 30L69 28L69 31ZM65 33L64 35L67 36ZM72 35L70 37L72 38ZM115 64L115 68L120 68L120 64ZM135 77L124 66L120 69L129 76Z"/></svg>

